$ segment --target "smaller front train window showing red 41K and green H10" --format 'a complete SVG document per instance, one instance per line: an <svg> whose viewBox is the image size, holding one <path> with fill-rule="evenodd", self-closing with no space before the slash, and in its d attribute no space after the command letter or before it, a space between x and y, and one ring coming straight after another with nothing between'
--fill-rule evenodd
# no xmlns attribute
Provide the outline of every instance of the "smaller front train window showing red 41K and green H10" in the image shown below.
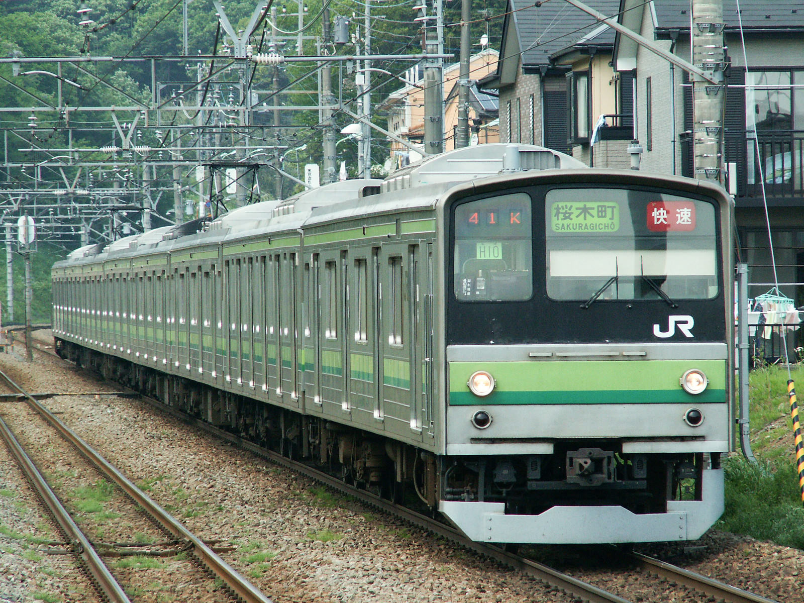
<svg viewBox="0 0 804 603"><path fill-rule="evenodd" d="M533 294L531 198L525 193L455 207L455 297L526 300Z"/></svg>

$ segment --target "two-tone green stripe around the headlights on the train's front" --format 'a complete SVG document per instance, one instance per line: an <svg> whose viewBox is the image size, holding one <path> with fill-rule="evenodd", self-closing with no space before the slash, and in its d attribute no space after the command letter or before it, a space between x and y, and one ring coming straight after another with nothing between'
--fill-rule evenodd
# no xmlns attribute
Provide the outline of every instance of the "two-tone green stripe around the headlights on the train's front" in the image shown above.
<svg viewBox="0 0 804 603"><path fill-rule="evenodd" d="M706 373L709 385L698 396L681 388L691 368ZM474 371L496 382L486 398L467 385ZM568 362L449 363L449 404L669 404L724 402L725 360L634 360Z"/></svg>

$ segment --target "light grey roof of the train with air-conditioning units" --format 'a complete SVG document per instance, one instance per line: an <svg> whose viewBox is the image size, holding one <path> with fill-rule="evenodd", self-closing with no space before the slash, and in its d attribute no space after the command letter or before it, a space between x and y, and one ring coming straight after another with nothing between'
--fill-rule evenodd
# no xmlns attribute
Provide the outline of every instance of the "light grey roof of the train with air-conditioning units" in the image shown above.
<svg viewBox="0 0 804 603"><path fill-rule="evenodd" d="M105 248L101 244L85 245L71 252L64 262L71 264L109 256L170 252L199 244L243 239L260 232L311 228L370 213L432 208L448 191L494 188L508 178L531 170L546 176L552 173L556 178L561 178L560 174L566 176L568 170L604 180L635 175L633 171L593 170L567 154L540 146L504 143L470 146L423 158L385 180L344 180L303 191L289 199L238 207L214 220L202 218L155 228L114 241ZM638 174L650 177L644 172ZM665 181L669 178L662 174L653 175ZM688 178L676 179L683 180L688 189L701 186L699 182L687 182Z"/></svg>

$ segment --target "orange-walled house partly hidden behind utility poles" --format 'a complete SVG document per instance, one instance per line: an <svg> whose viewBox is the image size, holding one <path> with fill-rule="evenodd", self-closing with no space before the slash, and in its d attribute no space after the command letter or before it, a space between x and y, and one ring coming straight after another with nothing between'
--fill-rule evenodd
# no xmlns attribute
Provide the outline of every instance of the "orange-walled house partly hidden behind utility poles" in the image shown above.
<svg viewBox="0 0 804 603"><path fill-rule="evenodd" d="M497 99L477 87L477 80L487 76L496 68L498 52L491 48L470 57L470 125L473 139L477 142L499 142L497 120ZM444 68L444 150L455 148L457 129L457 96L459 89L460 64L450 64ZM406 84L390 95L380 109L388 111L388 131L414 144L421 144L425 137L425 91L424 73L420 65L408 69ZM408 147L399 142L391 143L392 165L406 165L413 158ZM415 154L415 152L413 152Z"/></svg>

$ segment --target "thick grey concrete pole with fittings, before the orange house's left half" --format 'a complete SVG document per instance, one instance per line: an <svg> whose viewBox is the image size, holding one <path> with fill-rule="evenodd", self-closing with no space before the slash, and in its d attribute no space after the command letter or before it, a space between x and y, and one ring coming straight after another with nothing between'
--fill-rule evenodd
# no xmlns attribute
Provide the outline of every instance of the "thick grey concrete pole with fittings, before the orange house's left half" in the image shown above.
<svg viewBox="0 0 804 603"><path fill-rule="evenodd" d="M441 54L441 0L433 0L433 6L435 15L427 14L424 0L414 7L419 11L416 21L424 28L421 47L428 55ZM443 73L441 59L425 59L425 151L429 154L444 152Z"/></svg>

